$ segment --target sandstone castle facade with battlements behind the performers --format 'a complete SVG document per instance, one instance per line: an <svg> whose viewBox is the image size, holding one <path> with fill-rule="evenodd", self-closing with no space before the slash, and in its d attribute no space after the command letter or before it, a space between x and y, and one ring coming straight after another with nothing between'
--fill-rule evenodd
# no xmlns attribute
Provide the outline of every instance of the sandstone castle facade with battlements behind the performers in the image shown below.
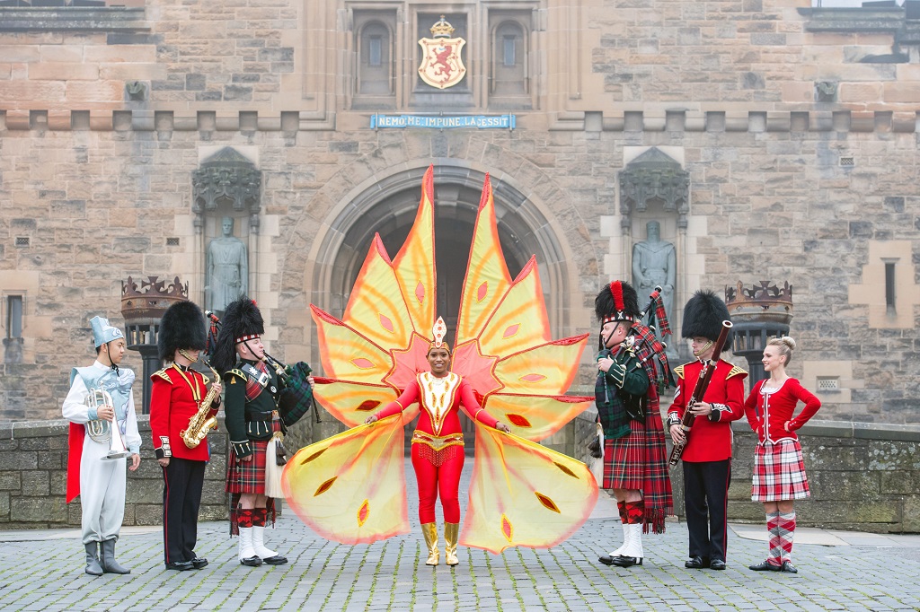
<svg viewBox="0 0 920 612"><path fill-rule="evenodd" d="M341 314L374 232L396 253L434 164L448 316L489 173L512 274L536 255L556 337L596 331L594 295L660 221L678 335L696 289L788 282L790 370L822 418L920 421L913 8L128 4L0 2L0 420L60 414L88 320L121 321L128 277L178 276L203 304L224 216L271 353L318 363L309 304ZM466 40L443 90L417 72L441 15ZM380 115L514 127L372 129Z"/></svg>

